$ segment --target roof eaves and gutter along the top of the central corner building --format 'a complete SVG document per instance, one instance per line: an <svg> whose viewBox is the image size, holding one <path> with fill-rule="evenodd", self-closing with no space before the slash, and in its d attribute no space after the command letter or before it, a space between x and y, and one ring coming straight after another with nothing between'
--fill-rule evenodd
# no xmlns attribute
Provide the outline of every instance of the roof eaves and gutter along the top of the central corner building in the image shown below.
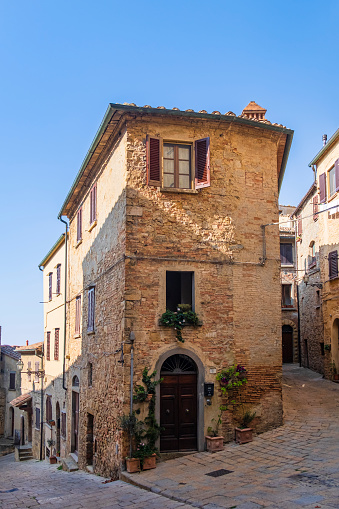
<svg viewBox="0 0 339 509"><path fill-rule="evenodd" d="M268 129L271 131L278 131L281 133L286 134L286 144L285 144L285 150L281 162L280 172L279 172L279 190L282 184L283 176L285 173L285 168L287 164L288 154L291 148L292 139L294 131L292 129L288 129L287 127L283 126L282 124L277 123L271 123L269 120L258 120L258 119L248 119L243 115L236 116L232 112L227 112L224 115L220 112L215 113L207 113L207 112L195 112L193 110L179 110L178 108L175 109L167 109L164 107L157 107L152 108L150 106L136 106L134 104L117 104L117 103L110 103L106 113L104 115L104 118L99 126L99 129L91 143L91 146L82 162L82 165L73 181L73 184L71 186L71 189L69 190L66 199L59 211L58 219L60 219L61 216L66 215L65 212L67 212L66 208L68 203L70 202L70 199L86 169L87 164L89 163L92 155L94 154L94 151L98 147L110 121L113 119L115 114L119 112L120 117L119 120L122 118L122 116L126 113L138 113L138 114L147 114L147 115L168 115L170 117L187 117L187 118L196 118L196 119L205 119L205 120L218 120L218 121L225 121L225 122L235 122L239 124L245 124L250 127L259 127L262 129ZM118 122L117 122L118 123ZM67 217L67 216L66 216Z"/></svg>

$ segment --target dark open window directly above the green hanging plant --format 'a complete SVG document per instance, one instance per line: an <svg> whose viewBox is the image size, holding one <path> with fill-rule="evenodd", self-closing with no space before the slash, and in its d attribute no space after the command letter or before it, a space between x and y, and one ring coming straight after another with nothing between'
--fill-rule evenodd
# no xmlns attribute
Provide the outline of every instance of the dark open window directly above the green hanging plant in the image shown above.
<svg viewBox="0 0 339 509"><path fill-rule="evenodd" d="M176 311L178 304L189 304L194 311L194 272L166 272L166 309Z"/></svg>

